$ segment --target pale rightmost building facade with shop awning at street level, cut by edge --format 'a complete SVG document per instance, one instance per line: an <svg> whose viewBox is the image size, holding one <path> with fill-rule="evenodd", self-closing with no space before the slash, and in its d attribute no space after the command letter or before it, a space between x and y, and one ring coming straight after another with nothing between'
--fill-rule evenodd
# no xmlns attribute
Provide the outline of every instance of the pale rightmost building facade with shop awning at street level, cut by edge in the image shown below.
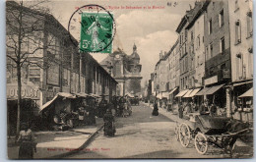
<svg viewBox="0 0 256 162"><path fill-rule="evenodd" d="M231 84L226 87L227 115L238 120L252 119L253 24L252 1L228 1ZM240 97L247 91L247 96Z"/></svg>

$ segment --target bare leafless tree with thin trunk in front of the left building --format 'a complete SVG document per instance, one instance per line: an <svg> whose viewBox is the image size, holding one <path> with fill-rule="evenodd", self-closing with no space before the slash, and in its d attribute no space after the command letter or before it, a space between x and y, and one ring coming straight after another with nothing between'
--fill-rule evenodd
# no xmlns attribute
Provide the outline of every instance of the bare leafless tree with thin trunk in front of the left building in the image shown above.
<svg viewBox="0 0 256 162"><path fill-rule="evenodd" d="M47 8L41 6L45 2L23 0L19 3L6 2L6 56L11 60L7 62L7 66L16 69L18 83L17 135L20 132L23 69L31 64L43 69L49 68L50 64L44 64L44 62L47 63L52 56L47 53L47 57L45 57L43 52L44 49L55 46L55 37L45 36L46 26L47 30L51 30L55 34L63 34L59 31L62 26L48 14Z"/></svg>

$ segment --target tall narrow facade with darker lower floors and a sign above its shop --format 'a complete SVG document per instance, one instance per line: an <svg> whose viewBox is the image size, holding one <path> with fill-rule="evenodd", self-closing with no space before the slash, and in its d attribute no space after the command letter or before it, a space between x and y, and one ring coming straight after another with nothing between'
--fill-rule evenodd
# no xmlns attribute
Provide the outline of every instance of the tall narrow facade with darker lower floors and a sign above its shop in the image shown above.
<svg viewBox="0 0 256 162"><path fill-rule="evenodd" d="M205 84L231 79L228 2L211 1L205 14ZM215 78L214 80L212 80ZM210 80L208 80L210 79ZM213 82L214 81L214 82Z"/></svg>

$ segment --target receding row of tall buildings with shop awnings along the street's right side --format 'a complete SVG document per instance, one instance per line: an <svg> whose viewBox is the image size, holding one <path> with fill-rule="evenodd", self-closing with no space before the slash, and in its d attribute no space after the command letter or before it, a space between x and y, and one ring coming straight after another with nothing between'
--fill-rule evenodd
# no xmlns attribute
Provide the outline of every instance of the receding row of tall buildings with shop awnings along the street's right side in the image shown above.
<svg viewBox="0 0 256 162"><path fill-rule="evenodd" d="M197 1L176 32L171 49L160 52L149 95L170 103L193 100L198 105L208 99L224 108L228 117L251 112L251 0Z"/></svg>

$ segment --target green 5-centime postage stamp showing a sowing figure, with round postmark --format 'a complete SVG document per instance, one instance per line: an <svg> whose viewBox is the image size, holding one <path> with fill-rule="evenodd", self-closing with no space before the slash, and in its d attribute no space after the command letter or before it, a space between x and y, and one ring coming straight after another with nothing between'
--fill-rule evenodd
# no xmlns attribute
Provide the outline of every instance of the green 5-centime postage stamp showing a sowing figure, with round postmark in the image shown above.
<svg viewBox="0 0 256 162"><path fill-rule="evenodd" d="M112 52L113 19L108 13L82 13L80 50Z"/></svg>

